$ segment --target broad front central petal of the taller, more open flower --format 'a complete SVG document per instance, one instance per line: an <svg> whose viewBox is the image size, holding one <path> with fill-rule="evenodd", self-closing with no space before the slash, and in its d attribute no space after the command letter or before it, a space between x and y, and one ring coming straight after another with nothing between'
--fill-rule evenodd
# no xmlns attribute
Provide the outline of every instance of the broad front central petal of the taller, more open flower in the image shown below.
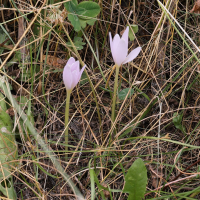
<svg viewBox="0 0 200 200"><path fill-rule="evenodd" d="M128 54L128 49L125 40L122 38L116 49L114 49L113 52L113 59L115 61L115 64L118 65L119 67L121 64L124 62L126 59L126 56Z"/></svg>

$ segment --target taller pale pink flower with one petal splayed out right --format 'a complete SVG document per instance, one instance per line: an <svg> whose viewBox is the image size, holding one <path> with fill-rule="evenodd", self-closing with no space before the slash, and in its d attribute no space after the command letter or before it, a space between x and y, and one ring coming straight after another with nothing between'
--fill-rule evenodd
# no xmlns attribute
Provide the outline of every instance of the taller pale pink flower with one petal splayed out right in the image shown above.
<svg viewBox="0 0 200 200"><path fill-rule="evenodd" d="M116 34L113 40L111 33L109 33L110 48L113 60L115 64L119 67L122 64L126 64L135 59L141 50L141 47L137 47L128 54L128 33L129 33L129 27L126 28L121 38L118 34Z"/></svg>

